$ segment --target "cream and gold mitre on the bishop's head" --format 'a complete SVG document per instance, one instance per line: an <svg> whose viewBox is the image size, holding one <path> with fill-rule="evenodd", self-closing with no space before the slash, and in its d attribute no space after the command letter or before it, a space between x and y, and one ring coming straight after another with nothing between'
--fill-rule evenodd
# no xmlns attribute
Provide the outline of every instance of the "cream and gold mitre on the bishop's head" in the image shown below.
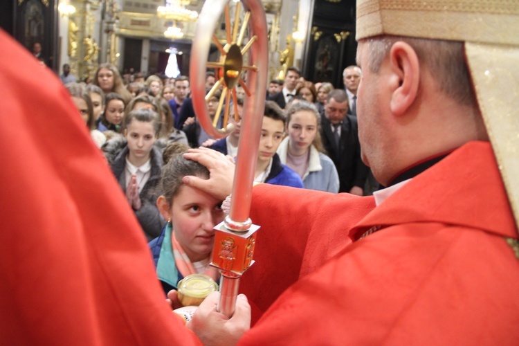
<svg viewBox="0 0 519 346"><path fill-rule="evenodd" d="M519 225L519 0L357 0L356 39L465 42L486 130Z"/></svg>

